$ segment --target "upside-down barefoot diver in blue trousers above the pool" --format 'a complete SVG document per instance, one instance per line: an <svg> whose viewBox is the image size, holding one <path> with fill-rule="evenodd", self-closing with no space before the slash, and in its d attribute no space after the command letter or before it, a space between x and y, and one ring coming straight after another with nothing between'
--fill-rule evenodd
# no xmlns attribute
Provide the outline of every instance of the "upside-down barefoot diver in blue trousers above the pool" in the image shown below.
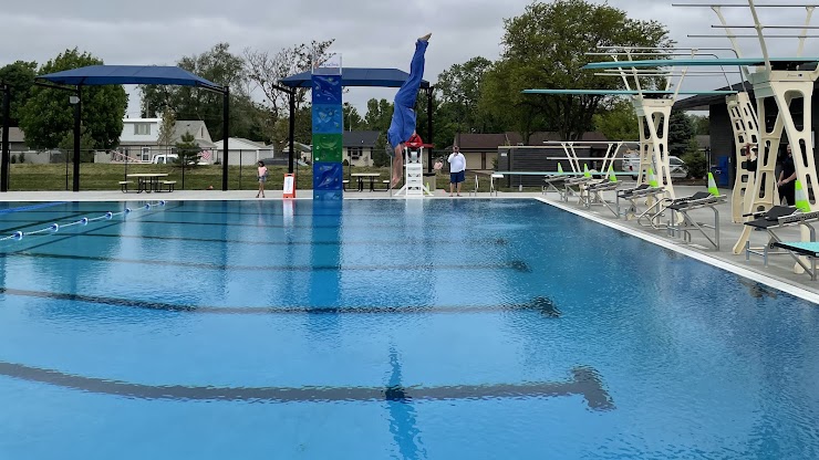
<svg viewBox="0 0 819 460"><path fill-rule="evenodd" d="M395 94L393 106L393 119L390 123L390 129L386 132L386 138L392 147L390 156L393 157L393 177L391 187L395 187L401 181L401 172L404 167L404 146L413 140L414 145L421 142L421 137L415 132L415 100L418 96L422 79L424 77L424 53L429 44L432 33L418 39L415 42L415 54L409 63L409 77L401 85Z"/></svg>

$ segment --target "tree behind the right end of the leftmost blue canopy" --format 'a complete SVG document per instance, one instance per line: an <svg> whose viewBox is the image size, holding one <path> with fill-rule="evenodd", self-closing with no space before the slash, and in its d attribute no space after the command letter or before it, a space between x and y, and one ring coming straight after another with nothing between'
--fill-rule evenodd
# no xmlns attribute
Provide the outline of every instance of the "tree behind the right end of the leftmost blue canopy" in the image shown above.
<svg viewBox="0 0 819 460"><path fill-rule="evenodd" d="M230 130L245 132L253 123L245 60L230 52L228 43L217 43L205 53L185 56L177 65L230 90ZM142 85L142 115L155 117L170 107L177 119L201 119L214 139L225 136L222 95L193 86Z"/></svg>

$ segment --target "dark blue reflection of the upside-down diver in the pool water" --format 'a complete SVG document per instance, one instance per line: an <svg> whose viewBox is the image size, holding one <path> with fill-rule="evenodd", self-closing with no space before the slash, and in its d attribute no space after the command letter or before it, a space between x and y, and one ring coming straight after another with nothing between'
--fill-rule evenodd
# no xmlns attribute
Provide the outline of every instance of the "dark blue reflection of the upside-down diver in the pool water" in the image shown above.
<svg viewBox="0 0 819 460"><path fill-rule="evenodd" d="M426 458L421 430L415 420L415 408L412 399L404 391L401 383L401 362L394 347L390 347L390 381L386 390L386 406L390 409L390 432L403 459Z"/></svg>

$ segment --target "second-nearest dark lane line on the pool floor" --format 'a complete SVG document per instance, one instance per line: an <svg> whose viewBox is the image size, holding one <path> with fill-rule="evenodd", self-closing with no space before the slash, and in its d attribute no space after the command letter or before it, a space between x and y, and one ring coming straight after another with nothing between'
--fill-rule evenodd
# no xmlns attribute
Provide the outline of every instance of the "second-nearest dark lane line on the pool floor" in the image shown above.
<svg viewBox="0 0 819 460"><path fill-rule="evenodd" d="M71 302L85 302L131 309L157 310L185 313L209 314L431 314L431 313L484 313L484 312L539 312L547 317L562 315L558 306L547 296L536 296L525 303L504 303L498 305L431 305L431 306L212 306L180 305L167 302L139 301L102 295L70 294L46 291L0 288L0 294L23 297L52 299Z"/></svg>

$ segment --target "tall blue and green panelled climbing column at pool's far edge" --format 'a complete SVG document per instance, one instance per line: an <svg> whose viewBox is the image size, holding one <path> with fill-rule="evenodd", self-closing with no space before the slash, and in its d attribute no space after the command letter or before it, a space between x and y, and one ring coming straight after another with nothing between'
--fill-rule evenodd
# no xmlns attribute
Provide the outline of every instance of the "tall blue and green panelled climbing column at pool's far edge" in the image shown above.
<svg viewBox="0 0 819 460"><path fill-rule="evenodd" d="M344 178L341 67L315 69L312 83L313 199L341 200Z"/></svg>

